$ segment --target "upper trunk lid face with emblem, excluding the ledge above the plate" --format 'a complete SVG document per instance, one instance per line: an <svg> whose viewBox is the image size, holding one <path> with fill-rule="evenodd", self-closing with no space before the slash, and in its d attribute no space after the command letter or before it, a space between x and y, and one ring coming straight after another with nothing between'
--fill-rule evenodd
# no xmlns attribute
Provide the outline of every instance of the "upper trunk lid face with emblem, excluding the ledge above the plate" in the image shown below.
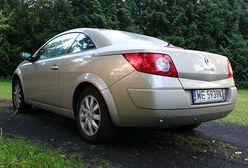
<svg viewBox="0 0 248 168"><path fill-rule="evenodd" d="M227 58L224 56L192 50L167 53L176 65L179 78L212 82L227 79Z"/></svg>

